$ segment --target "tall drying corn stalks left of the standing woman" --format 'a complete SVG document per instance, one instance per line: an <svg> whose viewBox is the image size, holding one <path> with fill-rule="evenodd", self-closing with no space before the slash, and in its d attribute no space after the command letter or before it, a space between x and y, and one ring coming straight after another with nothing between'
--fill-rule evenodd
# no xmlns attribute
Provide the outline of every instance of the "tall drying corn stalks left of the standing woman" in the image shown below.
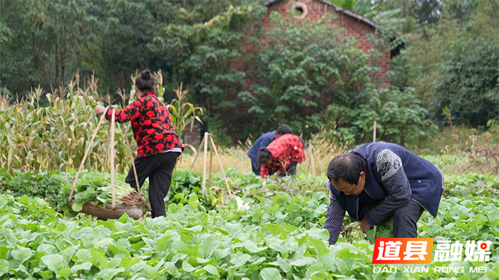
<svg viewBox="0 0 499 280"><path fill-rule="evenodd" d="M94 108L99 95L95 77L80 88L76 75L66 87L31 90L25 100L0 108L0 167L7 170L61 170L78 167L88 147L88 140L98 124ZM41 96L48 105L41 106ZM6 100L2 97L2 100ZM122 130L116 130L117 170L128 169L130 157L123 142ZM106 128L98 133L86 168L102 170L106 153Z"/></svg>

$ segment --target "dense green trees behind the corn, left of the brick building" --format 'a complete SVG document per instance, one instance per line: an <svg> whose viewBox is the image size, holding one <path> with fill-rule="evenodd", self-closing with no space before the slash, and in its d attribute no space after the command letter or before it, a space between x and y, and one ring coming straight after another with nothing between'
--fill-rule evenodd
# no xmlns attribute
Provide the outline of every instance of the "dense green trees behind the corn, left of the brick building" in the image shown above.
<svg viewBox="0 0 499 280"><path fill-rule="evenodd" d="M79 71L101 79L96 92L117 97L136 69L161 69L165 98L175 98L183 82L217 128L220 115L232 113L227 94L237 93L245 75L232 62L264 6L215 2L2 1L9 16L0 19L1 91L24 96L38 85L64 85Z"/></svg>

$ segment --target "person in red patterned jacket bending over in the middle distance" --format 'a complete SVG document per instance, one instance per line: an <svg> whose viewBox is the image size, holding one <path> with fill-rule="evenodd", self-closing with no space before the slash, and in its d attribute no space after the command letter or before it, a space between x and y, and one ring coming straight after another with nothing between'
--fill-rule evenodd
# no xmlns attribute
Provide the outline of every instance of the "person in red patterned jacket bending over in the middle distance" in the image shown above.
<svg viewBox="0 0 499 280"><path fill-rule="evenodd" d="M272 141L258 152L258 162L262 165L260 177L269 176L269 169L277 170L274 179L280 175L294 175L298 162L305 161L304 145L297 135L285 134Z"/></svg>

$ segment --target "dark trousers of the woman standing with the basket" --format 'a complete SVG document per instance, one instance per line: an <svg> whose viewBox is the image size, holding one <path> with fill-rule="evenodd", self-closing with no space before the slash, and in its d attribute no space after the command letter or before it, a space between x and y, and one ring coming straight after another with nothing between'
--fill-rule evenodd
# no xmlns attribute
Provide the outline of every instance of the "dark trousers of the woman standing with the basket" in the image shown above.
<svg viewBox="0 0 499 280"><path fill-rule="evenodd" d="M148 157L135 158L138 184L142 187L145 178L149 177L149 203L151 217L165 216L165 197L172 182L173 168L180 152L162 152ZM128 171L125 182L137 189L133 167Z"/></svg>

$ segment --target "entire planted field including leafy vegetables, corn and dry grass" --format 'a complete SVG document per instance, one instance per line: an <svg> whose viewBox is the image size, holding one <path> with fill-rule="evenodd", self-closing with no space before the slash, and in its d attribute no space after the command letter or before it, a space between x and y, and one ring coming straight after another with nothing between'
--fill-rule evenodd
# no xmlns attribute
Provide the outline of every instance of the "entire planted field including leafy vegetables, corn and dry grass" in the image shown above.
<svg viewBox="0 0 499 280"><path fill-rule="evenodd" d="M374 241L391 237L389 224L364 234L346 217L333 246L321 229L329 204L325 167L351 148L347 143L311 135L317 173L307 154L294 178L278 182L249 171L245 145L220 147L232 198L217 168L202 196L202 160L194 165L186 148L165 199L166 217L96 219L79 210L89 201L103 207L112 201L110 175L101 172L106 128L93 146L89 141L99 95L73 83L64 96L47 93L48 105L38 104L39 95L0 107L0 279L499 279L494 130L469 135L452 128L436 138L436 155L411 147L446 177L438 216L424 212L418 222L419 237L434 239L431 264L372 264ZM148 182L131 198L123 184L127 128L116 130L116 195L140 204L148 202ZM71 205L75 169L89 147ZM442 240L490 242L490 258L465 260L463 252L461 261L438 261Z"/></svg>

